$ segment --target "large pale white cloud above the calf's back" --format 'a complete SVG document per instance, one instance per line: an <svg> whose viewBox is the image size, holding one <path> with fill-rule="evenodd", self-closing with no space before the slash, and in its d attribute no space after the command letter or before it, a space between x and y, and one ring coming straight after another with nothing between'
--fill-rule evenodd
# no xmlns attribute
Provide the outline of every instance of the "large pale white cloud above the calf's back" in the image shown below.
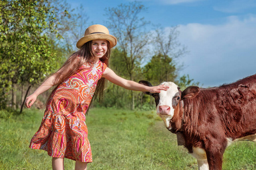
<svg viewBox="0 0 256 170"><path fill-rule="evenodd" d="M222 25L180 25L179 40L190 51L183 74L207 86L256 73L256 16L230 16Z"/></svg>

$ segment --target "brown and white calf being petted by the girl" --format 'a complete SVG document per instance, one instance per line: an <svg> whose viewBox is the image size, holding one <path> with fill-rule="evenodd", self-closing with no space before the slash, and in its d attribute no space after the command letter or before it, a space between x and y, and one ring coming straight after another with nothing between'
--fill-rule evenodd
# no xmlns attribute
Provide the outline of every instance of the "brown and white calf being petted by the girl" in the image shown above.
<svg viewBox="0 0 256 170"><path fill-rule="evenodd" d="M222 169L222 156L230 143L256 141L256 74L213 88L191 86L180 91L175 83L162 84L170 88L145 93L155 98L166 128L183 136L199 169Z"/></svg>

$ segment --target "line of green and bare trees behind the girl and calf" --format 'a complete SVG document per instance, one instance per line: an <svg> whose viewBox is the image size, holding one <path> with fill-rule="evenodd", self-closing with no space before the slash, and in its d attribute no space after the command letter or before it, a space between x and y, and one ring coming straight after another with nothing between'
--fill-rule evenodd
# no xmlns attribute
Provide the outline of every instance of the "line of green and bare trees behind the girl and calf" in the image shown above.
<svg viewBox="0 0 256 170"><path fill-rule="evenodd" d="M71 9L61 0L3 0L0 8L0 110L17 109L27 92L30 94L76 51L74 46L89 26L89 17L82 5ZM198 84L188 75L178 77L179 58L187 51L177 42L176 27L149 30L151 23L142 16L145 10L140 2L106 8L109 18L104 25L118 39L110 68L136 82L143 79L158 85L172 81L181 88ZM35 106L42 107L47 95L49 92L42 94ZM149 96L112 83L102 103L94 101L94 107L99 105L129 109L154 106Z"/></svg>

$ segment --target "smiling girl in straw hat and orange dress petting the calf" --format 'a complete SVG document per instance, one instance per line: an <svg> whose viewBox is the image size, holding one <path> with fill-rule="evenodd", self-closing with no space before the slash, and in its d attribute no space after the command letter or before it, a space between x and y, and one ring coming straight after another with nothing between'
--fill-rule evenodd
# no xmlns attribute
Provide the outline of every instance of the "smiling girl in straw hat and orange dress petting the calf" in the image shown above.
<svg viewBox="0 0 256 170"><path fill-rule="evenodd" d="M103 25L92 25L77 41L79 50L26 99L31 108L36 97L55 86L48 98L39 130L30 148L46 150L52 156L52 169L64 169L64 158L76 161L75 169L86 169L92 162L85 113L93 94L102 97L105 79L123 88L151 93L167 90L166 86L148 87L126 80L108 67L110 49L117 39Z"/></svg>

